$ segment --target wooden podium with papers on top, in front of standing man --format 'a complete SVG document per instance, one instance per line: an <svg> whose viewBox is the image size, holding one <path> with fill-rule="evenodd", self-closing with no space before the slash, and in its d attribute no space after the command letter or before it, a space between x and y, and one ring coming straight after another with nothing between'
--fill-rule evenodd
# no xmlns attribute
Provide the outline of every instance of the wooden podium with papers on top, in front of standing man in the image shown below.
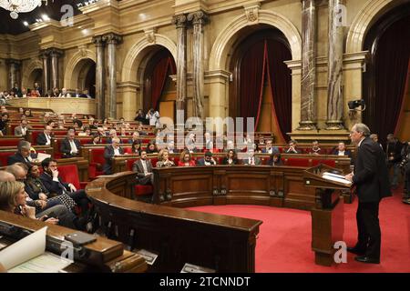
<svg viewBox="0 0 410 291"><path fill-rule="evenodd" d="M332 266L336 249L334 243L343 241L344 213L343 190L351 184L329 180L323 173L344 174L330 166L314 166L304 171L304 186L315 188L315 205L312 214L312 249L317 265Z"/></svg>

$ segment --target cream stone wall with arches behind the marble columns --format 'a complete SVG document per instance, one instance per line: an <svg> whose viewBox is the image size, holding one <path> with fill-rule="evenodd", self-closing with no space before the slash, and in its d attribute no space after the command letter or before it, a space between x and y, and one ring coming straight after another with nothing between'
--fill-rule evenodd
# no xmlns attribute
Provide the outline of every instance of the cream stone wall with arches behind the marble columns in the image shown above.
<svg viewBox="0 0 410 291"><path fill-rule="evenodd" d="M408 0L345 0L347 7L347 26L344 28L345 51L343 74L344 74L344 104L348 100L362 96L362 70L365 53L361 52L360 37L355 39L354 33L365 34L366 27L383 15L389 7ZM107 32L118 33L123 36L123 43L118 45L117 51L117 80L118 80L118 116L126 118L134 117L135 111L142 107L143 90L141 87L142 69L133 68L129 74L127 56L133 46L148 39L147 34L157 35L160 44L177 44L177 31L172 25L172 16L179 13L190 13L200 8L210 15L210 22L204 26L204 68L205 84L204 95L207 99L206 113L210 116L225 116L229 112L229 61L220 65L220 71L210 71L210 55L218 40L228 25L235 25L234 20L245 15L244 6L260 3L260 11L267 11L281 15L285 21L295 28L295 32L287 31L288 35L302 35L302 17L300 0L151 0L132 1L123 0L117 2L108 0L110 5L88 5L84 15L75 18L72 27L58 27L58 24L31 25L32 32L12 36L0 35L0 42L7 45L0 46L0 88L7 84L7 69L1 58L14 57L23 60L22 72L26 67L31 67L31 62L37 58L40 49L47 47L59 47L65 51L60 60L60 86L67 85L67 75L72 74L67 66L73 65L73 59L78 52L88 51L95 54L95 45L92 44L92 36ZM327 52L328 52L328 9L327 1L316 1L317 3L317 79L315 88L315 100L317 105L317 118L319 127L324 126L327 115ZM252 23L249 23L252 27ZM353 33L354 32L354 33ZM231 35L231 39L237 39L238 35ZM363 38L363 37L362 37ZM293 42L294 39L289 39ZM188 29L188 73L192 71L192 28ZM25 45L20 45L25 43ZM145 55L157 42L145 42L145 48L141 51L141 61L144 63ZM235 42L232 42L234 47ZM354 47L354 51L351 48ZM358 49L360 47L360 49ZM107 51L107 50L106 50ZM91 52L91 53L90 53ZM227 54L232 51L227 50ZM86 54L87 55L87 54ZM301 85L301 55L292 55L292 61L287 64L292 68L292 128L295 129L300 121L300 85ZM37 59L38 60L38 59ZM135 59L134 59L135 60ZM132 60L132 61L134 61ZM176 60L177 61L177 60ZM107 68L107 64L106 64ZM139 74L138 74L139 73ZM107 74L106 74L107 76ZM74 76L75 77L75 76ZM108 84L108 83L106 83ZM188 115L191 114L192 85L188 81ZM106 86L107 88L107 86ZM107 91L106 91L107 94ZM108 97L108 95L106 95ZM208 109L209 108L209 109ZM347 109L347 108L346 108ZM350 120L345 110L345 124L351 125L355 121Z"/></svg>

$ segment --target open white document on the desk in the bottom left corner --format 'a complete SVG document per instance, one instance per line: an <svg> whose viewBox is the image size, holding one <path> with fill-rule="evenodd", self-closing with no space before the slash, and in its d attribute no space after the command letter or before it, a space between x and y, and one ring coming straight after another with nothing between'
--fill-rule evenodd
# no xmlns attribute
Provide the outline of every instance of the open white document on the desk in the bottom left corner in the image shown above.
<svg viewBox="0 0 410 291"><path fill-rule="evenodd" d="M0 252L0 263L8 272L54 273L71 264L67 259L46 253L46 230L47 226Z"/></svg>

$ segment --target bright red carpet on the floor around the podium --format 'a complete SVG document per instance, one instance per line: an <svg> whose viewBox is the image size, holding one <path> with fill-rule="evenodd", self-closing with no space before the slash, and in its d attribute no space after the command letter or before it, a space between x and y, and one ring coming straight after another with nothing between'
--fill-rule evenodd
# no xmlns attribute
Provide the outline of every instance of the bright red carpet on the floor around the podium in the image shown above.
<svg viewBox="0 0 410 291"><path fill-rule="evenodd" d="M410 272L410 206L401 202L401 192L380 204L382 229L381 264L363 264L348 253L347 264L317 266L311 250L311 215L309 211L269 206L200 206L191 210L263 221L256 244L256 272L330 272L371 273ZM344 205L344 236L347 246L357 237L355 212L357 199Z"/></svg>

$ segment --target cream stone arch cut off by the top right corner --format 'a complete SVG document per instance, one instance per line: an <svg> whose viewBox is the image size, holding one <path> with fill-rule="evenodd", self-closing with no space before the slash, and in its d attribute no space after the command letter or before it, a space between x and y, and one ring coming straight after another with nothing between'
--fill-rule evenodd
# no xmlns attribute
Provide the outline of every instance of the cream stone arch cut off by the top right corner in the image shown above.
<svg viewBox="0 0 410 291"><path fill-rule="evenodd" d="M372 25L387 11L408 2L410 0L368 0L350 25L346 39L346 53L361 52L365 35Z"/></svg>

